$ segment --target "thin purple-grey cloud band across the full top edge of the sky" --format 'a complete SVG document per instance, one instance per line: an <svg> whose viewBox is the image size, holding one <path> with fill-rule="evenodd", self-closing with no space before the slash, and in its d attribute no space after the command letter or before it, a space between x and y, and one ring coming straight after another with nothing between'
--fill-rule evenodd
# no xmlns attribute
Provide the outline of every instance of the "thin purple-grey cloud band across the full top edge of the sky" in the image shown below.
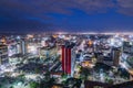
<svg viewBox="0 0 133 88"><path fill-rule="evenodd" d="M132 13L133 0L0 0L0 7L35 16L52 12L69 14L72 13L70 9L86 13L105 12L114 7L121 13Z"/></svg>

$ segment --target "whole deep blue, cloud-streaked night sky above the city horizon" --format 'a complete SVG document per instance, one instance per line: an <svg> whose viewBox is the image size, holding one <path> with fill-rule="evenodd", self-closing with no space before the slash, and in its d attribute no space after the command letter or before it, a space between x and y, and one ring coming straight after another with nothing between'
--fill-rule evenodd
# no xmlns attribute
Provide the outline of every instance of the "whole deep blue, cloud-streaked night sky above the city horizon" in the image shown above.
<svg viewBox="0 0 133 88"><path fill-rule="evenodd" d="M131 32L133 0L0 0L0 32Z"/></svg>

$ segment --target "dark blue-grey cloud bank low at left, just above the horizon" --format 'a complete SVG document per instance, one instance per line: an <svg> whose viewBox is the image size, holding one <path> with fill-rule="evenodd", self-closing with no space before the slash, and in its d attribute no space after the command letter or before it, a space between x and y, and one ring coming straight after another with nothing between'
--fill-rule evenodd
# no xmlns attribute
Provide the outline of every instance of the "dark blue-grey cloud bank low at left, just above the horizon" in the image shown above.
<svg viewBox="0 0 133 88"><path fill-rule="evenodd" d="M13 13L2 13L0 16L0 30L3 31L38 32L53 26L52 23L47 23L40 18L21 16L20 13L16 13L16 15Z"/></svg>

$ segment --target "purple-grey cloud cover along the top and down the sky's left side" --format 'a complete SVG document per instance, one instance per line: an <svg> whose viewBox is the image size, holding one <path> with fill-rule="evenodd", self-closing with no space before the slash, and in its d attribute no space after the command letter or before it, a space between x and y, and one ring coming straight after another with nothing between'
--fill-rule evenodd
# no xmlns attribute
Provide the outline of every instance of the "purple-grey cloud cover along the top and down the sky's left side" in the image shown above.
<svg viewBox="0 0 133 88"><path fill-rule="evenodd" d="M72 9L88 14L110 9L133 16L133 0L0 0L0 29L33 29L53 26L48 13L73 14ZM32 18L32 19L31 19Z"/></svg>

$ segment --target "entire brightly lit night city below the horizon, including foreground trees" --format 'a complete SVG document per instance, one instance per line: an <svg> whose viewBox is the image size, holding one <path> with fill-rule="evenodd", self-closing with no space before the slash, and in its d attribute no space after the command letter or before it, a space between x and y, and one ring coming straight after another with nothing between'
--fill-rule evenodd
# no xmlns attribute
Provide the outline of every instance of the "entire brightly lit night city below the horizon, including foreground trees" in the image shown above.
<svg viewBox="0 0 133 88"><path fill-rule="evenodd" d="M133 35L0 36L1 88L132 88Z"/></svg>

